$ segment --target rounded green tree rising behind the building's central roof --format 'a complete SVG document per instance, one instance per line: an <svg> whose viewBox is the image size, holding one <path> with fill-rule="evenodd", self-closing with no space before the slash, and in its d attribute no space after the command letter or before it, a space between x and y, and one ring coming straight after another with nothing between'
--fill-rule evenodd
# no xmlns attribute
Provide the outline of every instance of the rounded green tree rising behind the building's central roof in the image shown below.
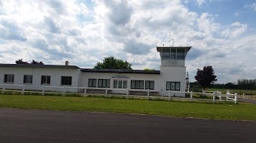
<svg viewBox="0 0 256 143"><path fill-rule="evenodd" d="M109 69L127 69L132 70L132 64L127 60L120 60L112 56L105 57L102 63L97 62L94 68L109 68Z"/></svg>

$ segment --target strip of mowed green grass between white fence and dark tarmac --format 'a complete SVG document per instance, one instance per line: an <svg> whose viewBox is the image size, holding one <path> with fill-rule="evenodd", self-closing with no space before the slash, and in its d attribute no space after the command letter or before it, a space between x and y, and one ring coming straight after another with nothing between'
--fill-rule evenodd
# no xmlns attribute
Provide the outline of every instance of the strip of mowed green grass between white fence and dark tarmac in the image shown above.
<svg viewBox="0 0 256 143"><path fill-rule="evenodd" d="M256 121L256 105L212 102L127 100L107 97L0 95L0 107L37 110L118 112L214 120Z"/></svg>

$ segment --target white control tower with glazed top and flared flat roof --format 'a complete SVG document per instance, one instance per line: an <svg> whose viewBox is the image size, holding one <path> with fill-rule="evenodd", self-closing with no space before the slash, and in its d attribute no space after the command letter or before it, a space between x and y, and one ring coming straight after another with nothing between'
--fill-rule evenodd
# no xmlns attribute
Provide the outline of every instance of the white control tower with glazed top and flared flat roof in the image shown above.
<svg viewBox="0 0 256 143"><path fill-rule="evenodd" d="M185 91L187 87L185 58L191 46L158 47L161 57L160 75L165 90ZM182 95L183 96L183 95Z"/></svg>

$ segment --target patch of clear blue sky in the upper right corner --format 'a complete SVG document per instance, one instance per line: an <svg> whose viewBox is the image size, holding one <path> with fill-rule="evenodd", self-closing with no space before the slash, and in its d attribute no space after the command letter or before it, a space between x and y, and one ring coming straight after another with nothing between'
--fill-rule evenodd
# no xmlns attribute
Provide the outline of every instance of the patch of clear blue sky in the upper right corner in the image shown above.
<svg viewBox="0 0 256 143"><path fill-rule="evenodd" d="M195 1L189 1L184 4L190 11L197 11L197 14L209 13L215 17L217 23L228 25L240 21L248 23L250 28L256 26L255 8L252 4L256 1L237 1L237 0L222 0L222 1L205 1L200 6ZM251 6L251 7L250 7ZM248 9L249 8L249 9Z"/></svg>

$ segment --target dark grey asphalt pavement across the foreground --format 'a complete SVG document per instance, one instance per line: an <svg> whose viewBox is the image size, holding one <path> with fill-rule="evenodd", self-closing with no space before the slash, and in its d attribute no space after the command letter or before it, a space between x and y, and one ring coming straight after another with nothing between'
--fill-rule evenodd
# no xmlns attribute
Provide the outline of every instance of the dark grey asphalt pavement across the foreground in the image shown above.
<svg viewBox="0 0 256 143"><path fill-rule="evenodd" d="M256 122L0 108L0 142L255 142Z"/></svg>

